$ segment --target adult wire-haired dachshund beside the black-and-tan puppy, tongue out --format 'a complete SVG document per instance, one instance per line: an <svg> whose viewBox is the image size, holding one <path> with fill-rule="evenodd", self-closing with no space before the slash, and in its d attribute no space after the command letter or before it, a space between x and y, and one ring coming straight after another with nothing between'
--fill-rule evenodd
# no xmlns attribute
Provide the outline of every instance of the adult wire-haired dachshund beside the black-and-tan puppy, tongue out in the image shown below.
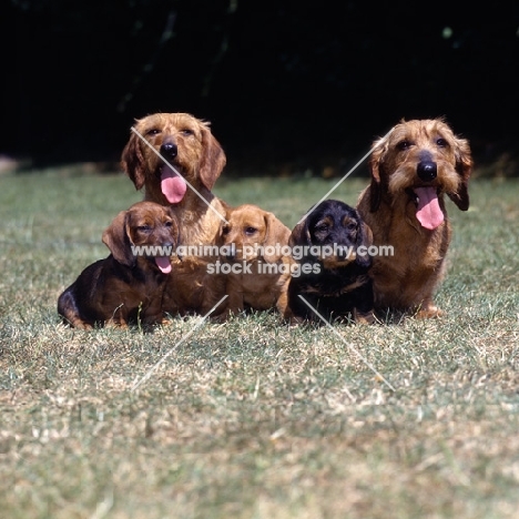
<svg viewBox="0 0 519 519"><path fill-rule="evenodd" d="M444 195L468 210L469 144L434 119L403 121L372 149L372 182L357 210L374 244L394 247L393 256L374 257L375 307L440 316L434 294L451 237Z"/></svg>

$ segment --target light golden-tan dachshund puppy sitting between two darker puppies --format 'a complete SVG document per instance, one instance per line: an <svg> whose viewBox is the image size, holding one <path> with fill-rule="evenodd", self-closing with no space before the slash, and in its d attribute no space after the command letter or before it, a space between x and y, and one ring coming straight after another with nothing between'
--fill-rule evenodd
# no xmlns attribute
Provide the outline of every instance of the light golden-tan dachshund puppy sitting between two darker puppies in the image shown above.
<svg viewBox="0 0 519 519"><path fill-rule="evenodd" d="M252 204L228 208L226 220L221 242L226 264L221 268L227 281L227 312L276 307L284 315L294 264L288 247L291 230L273 213Z"/></svg>

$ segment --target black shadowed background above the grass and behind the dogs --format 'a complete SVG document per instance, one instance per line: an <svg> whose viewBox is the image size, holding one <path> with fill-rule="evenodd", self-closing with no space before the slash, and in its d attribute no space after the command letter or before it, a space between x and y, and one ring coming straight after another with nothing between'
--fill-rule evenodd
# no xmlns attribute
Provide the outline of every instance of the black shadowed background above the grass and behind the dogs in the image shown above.
<svg viewBox="0 0 519 519"><path fill-rule="evenodd" d="M401 118L439 115L480 163L517 157L517 1L3 6L0 154L32 166L118 161L156 111L211 121L244 173L348 164Z"/></svg>

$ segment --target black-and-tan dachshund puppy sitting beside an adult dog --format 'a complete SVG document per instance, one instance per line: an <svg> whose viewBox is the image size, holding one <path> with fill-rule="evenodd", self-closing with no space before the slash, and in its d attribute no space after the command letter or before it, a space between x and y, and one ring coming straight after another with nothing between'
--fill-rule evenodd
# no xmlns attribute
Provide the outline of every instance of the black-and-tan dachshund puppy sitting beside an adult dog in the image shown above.
<svg viewBox="0 0 519 519"><path fill-rule="evenodd" d="M373 323L372 243L372 231L349 205L326 200L313 207L288 242L301 274L288 285L285 316L292 323L319 319L301 295L328 320L352 315Z"/></svg>

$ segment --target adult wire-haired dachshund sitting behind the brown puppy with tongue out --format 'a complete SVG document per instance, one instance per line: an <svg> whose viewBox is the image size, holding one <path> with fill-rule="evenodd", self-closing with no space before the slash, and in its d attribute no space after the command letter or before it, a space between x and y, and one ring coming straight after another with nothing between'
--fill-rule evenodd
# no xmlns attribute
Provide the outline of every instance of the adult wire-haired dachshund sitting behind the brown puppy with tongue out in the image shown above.
<svg viewBox="0 0 519 519"><path fill-rule="evenodd" d="M144 189L145 200L172 207L183 245L196 252L182 262L172 258L164 295L164 309L171 314L205 314L225 295L225 279L206 275L217 255L204 253L216 244L225 218L226 204L211 192L225 162L208 123L187 113L154 113L138 120L122 152L122 167L135 189Z"/></svg>

